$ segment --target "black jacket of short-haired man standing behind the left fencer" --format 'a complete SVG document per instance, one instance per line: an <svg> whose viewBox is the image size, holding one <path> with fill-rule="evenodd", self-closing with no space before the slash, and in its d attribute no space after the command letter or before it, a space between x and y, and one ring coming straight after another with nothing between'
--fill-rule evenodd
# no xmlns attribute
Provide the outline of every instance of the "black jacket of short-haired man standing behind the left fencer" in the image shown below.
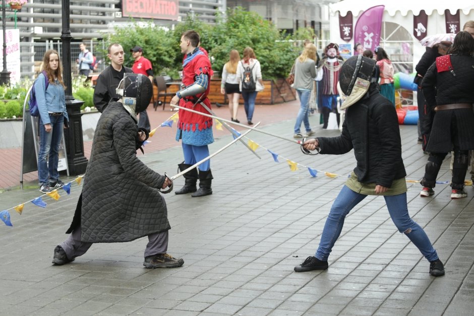
<svg viewBox="0 0 474 316"><path fill-rule="evenodd" d="M133 73L131 68L123 67L125 73ZM108 66L100 73L97 78L94 89L94 105L99 112L103 112L108 102L113 98L113 101L118 100L118 96L115 93L115 89L118 87L120 81L124 79L123 74L112 69L112 66Z"/></svg>

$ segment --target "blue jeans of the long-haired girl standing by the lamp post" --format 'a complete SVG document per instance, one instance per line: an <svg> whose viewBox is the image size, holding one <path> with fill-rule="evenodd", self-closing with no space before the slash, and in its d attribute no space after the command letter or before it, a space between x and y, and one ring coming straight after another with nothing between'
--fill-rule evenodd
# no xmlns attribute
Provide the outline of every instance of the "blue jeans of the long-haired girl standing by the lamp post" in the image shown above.
<svg viewBox="0 0 474 316"><path fill-rule="evenodd" d="M57 162L59 160L59 148L63 137L64 116L53 116L49 114L51 121L51 132L46 133L44 124L39 118L39 153L38 153L38 179L39 183L49 185L49 181L56 182L59 179ZM48 158L49 156L49 158Z"/></svg>

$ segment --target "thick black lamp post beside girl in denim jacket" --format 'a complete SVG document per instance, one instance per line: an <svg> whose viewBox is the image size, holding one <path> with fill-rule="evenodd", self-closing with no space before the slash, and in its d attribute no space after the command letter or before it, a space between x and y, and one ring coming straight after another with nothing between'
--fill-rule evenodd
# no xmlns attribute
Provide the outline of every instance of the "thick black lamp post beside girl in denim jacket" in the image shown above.
<svg viewBox="0 0 474 316"><path fill-rule="evenodd" d="M5 0L3 0L5 1ZM83 101L74 99L71 78L71 29L69 24L69 0L62 0L63 31L63 79L66 85L66 108L69 116L69 129L65 130L66 150L70 174L78 175L86 171L87 158L84 156L84 139L82 138L81 105Z"/></svg>

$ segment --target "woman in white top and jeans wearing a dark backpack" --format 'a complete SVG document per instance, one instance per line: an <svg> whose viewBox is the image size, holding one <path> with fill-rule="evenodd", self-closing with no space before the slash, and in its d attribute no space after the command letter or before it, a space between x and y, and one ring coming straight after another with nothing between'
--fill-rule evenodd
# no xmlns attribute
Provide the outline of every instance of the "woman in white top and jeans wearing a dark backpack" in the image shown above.
<svg viewBox="0 0 474 316"><path fill-rule="evenodd" d="M262 91L265 86L263 85L260 62L255 57L254 50L251 47L247 46L244 49L244 58L237 67L237 78L239 78L239 87L244 98L247 123L252 125L257 92Z"/></svg>

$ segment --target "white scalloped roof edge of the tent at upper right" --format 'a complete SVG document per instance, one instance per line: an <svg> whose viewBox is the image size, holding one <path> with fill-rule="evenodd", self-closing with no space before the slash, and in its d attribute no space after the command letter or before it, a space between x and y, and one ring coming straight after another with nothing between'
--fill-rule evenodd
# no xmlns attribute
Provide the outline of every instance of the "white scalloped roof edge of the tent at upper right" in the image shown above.
<svg viewBox="0 0 474 316"><path fill-rule="evenodd" d="M436 10L439 15L444 15L444 10L449 9L451 14L455 14L459 9L465 15L468 15L474 9L474 4L465 0L450 0L450 1L426 1L426 0L392 0L391 2L381 3L380 0L343 0L341 2L330 4L329 10L331 15L336 15L339 11L341 16L346 16L347 12L358 17L363 11L375 6L385 6L385 11L390 16L395 16L399 11L402 16L408 15L411 11L413 15L419 15L421 10L425 10L427 15L433 14Z"/></svg>

